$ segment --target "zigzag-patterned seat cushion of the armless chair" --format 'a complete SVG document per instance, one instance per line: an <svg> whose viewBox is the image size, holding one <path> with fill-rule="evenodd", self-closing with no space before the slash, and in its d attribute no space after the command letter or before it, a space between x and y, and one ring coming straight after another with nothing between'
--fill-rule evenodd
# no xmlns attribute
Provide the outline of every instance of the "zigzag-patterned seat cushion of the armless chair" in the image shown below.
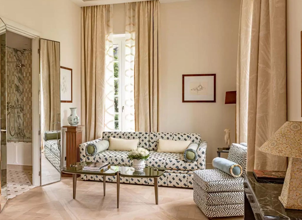
<svg viewBox="0 0 302 220"><path fill-rule="evenodd" d="M233 177L218 169L194 171L194 184L205 192L243 191L243 177Z"/></svg>

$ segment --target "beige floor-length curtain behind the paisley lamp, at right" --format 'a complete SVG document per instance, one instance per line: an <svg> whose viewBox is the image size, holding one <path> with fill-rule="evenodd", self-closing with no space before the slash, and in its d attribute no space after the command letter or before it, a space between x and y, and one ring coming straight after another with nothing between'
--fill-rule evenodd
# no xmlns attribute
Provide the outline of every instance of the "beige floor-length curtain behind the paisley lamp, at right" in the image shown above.
<svg viewBox="0 0 302 220"><path fill-rule="evenodd" d="M237 141L248 170L286 170L287 158L259 147L287 120L286 0L242 0L237 66Z"/></svg>

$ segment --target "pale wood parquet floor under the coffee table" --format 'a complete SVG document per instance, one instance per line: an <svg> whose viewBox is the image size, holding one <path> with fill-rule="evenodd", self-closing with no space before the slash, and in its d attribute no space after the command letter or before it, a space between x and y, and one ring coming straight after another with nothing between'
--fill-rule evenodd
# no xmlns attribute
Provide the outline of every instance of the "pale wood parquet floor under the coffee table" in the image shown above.
<svg viewBox="0 0 302 220"><path fill-rule="evenodd" d="M206 220L193 201L193 189L159 187L159 205L154 187L121 184L120 208L116 208L116 183L77 181L76 199L72 199L72 178L36 187L10 199L0 214L1 220ZM243 217L215 220L242 220Z"/></svg>

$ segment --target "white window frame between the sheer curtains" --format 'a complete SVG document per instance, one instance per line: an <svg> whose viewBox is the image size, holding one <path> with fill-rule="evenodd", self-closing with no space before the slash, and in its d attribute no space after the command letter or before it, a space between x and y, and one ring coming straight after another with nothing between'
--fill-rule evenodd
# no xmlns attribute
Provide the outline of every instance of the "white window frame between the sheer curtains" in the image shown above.
<svg viewBox="0 0 302 220"><path fill-rule="evenodd" d="M118 109L119 109L119 120L118 120L118 130L115 131L125 131L125 126L123 121L125 121L124 114L123 114L123 107L125 105L125 93L123 92L124 89L124 82L125 82L125 34L114 34L113 35L113 45L118 45ZM116 79L116 78L114 78ZM115 97L116 95L114 95ZM115 120L114 120L115 121ZM114 125L115 127L115 125Z"/></svg>

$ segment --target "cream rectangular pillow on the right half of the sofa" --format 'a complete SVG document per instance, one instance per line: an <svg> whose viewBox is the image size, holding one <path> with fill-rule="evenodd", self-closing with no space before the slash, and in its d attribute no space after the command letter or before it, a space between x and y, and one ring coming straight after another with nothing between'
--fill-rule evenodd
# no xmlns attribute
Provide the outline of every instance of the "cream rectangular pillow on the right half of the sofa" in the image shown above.
<svg viewBox="0 0 302 220"><path fill-rule="evenodd" d="M183 154L191 141L158 140L157 152Z"/></svg>

